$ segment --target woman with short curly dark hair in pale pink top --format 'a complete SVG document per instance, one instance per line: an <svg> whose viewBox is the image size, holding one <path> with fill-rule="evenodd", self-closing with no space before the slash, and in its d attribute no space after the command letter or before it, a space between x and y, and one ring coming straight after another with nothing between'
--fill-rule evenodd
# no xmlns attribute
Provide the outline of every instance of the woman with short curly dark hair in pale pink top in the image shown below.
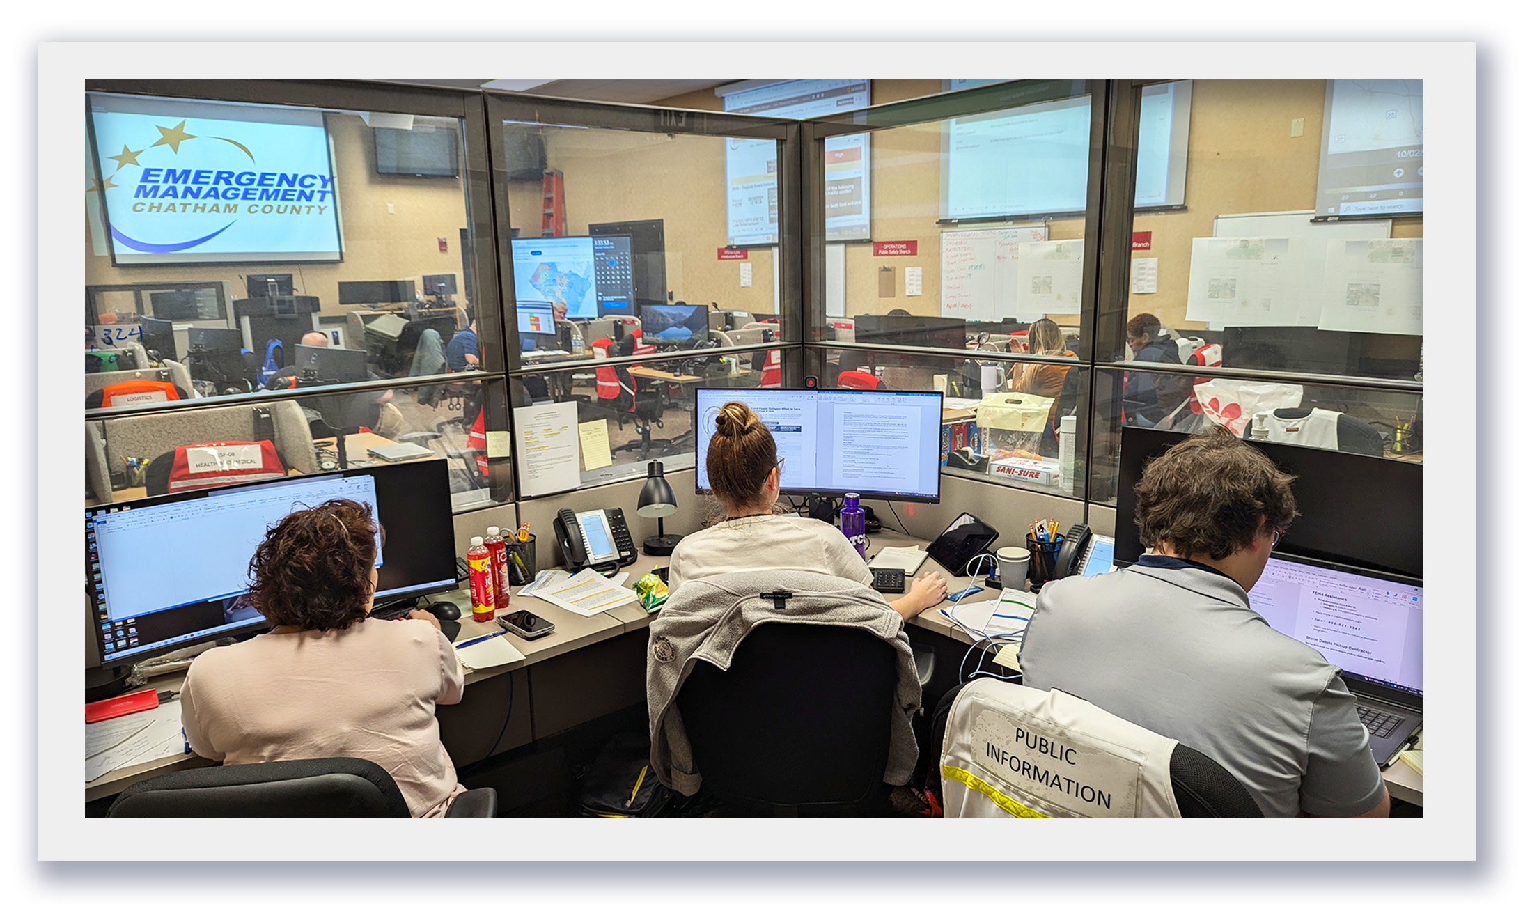
<svg viewBox="0 0 1523 904"><path fill-rule="evenodd" d="M434 708L458 703L465 671L423 610L367 618L378 527L349 499L270 528L248 566L250 597L274 627L190 664L186 740L228 766L358 756L391 775L414 817L443 816L465 791Z"/></svg>

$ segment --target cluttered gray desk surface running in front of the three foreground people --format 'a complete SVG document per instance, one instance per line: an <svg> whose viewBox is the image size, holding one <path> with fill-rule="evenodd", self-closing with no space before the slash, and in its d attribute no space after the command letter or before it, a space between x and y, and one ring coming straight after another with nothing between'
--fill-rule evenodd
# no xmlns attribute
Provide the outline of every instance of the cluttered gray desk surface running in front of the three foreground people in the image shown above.
<svg viewBox="0 0 1523 904"><path fill-rule="evenodd" d="M870 539L868 545L870 552L876 552L883 546L926 545L926 540L921 540L918 537L911 537L908 534L902 534L899 531L891 531L891 530L883 530L870 534L868 539ZM640 560L635 562L634 566L626 569L626 572L629 572L626 586L632 584L635 578L652 569L664 568L669 562L670 559L661 555L646 555L641 552ZM924 565L921 565L915 574L923 574L929 571L941 571L941 566L934 560L926 559ZM949 586L964 587L967 586L967 578L964 577L958 580L956 577L953 577L947 583ZM975 583L981 587L984 586L981 580ZM892 600L896 595L886 595L886 597ZM996 597L995 590L985 589L982 594L975 594L970 601L993 600L995 597ZM466 590L451 590L449 594L440 594L433 598L436 601L448 600L455 606L458 606L463 613L466 613L460 619L460 636L455 638L455 642L468 641L471 638L496 630L496 624L492 621L478 622L471 618L469 594ZM583 616L560 609L559 606L547 603L536 597L524 597L519 594L512 595L510 609L527 609L535 615L548 618L556 625L554 633L545 638L539 638L538 641L525 641L515 635L506 635L509 642L513 644L513 647L516 647L518 651L524 654L524 660L486 670L475 670L475 671L468 670L466 671L468 686L504 673L532 667L535 664L553 659L564 653L571 653L573 650L589 647L600 641L612 639L629 632L643 630L655 619L655 615L646 612L644 607L640 606L640 603L626 603L623 606L615 606L614 609L606 609L595 615ZM940 609L943 609L943 606L935 606L932 609L928 609L926 612L921 612L920 615L912 618L909 624L924 630L935 632L938 635L944 635L947 638L952 638L964 644L972 644L973 638L970 638L967 632L952 624L944 615L941 615L941 612L938 612ZM171 676L161 676L160 679L149 682L149 686L155 689L178 689L183 682L184 682L184 674L175 673ZM181 755L120 769L97 778L93 782L85 784L85 801L94 801L99 797L116 794L123 788L126 788L126 785L136 781L152 778L155 775L163 775L168 772L175 772L180 769L192 769L200 766L210 766L210 762L195 755ZM1409 767L1406 762L1397 761L1394 766L1386 769L1383 775L1386 779L1386 787L1390 788L1392 797L1398 801L1407 801L1419 807L1422 805L1421 773Z"/></svg>

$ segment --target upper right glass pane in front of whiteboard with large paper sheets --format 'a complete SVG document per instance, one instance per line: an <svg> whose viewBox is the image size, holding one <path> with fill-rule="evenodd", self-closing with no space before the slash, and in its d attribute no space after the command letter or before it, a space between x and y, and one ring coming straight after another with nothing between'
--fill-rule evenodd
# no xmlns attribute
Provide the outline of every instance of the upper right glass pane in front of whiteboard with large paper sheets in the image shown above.
<svg viewBox="0 0 1523 904"><path fill-rule="evenodd" d="M1422 82L1197 79L1189 122L1109 358L1421 380Z"/></svg>

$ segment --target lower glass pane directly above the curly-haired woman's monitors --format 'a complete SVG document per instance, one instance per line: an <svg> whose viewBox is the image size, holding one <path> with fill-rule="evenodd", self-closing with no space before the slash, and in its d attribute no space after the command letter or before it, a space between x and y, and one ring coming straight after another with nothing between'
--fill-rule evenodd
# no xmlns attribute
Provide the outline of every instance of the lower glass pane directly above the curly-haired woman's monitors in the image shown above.
<svg viewBox="0 0 1523 904"><path fill-rule="evenodd" d="M492 502L492 484L510 479L506 457L487 460L486 432L475 423L484 390L484 382L461 380L324 396L270 393L247 405L91 420L85 425L85 504L212 485L207 481L434 457L449 460L455 510L484 505ZM201 443L231 450L218 454L235 458L231 481L204 450L186 449Z"/></svg>

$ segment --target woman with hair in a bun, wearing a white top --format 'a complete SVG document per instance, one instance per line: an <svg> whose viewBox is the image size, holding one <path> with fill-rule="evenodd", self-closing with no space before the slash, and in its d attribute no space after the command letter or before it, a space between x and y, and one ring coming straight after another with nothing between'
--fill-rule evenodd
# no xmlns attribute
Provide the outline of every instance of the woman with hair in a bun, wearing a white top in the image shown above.
<svg viewBox="0 0 1523 904"><path fill-rule="evenodd" d="M672 551L667 586L673 594L694 578L778 568L873 583L873 572L839 528L813 517L777 514L783 461L772 431L743 402L726 402L719 409L707 466L723 520L688 534ZM909 621L946 598L946 578L932 571L917 577L889 606Z"/></svg>

